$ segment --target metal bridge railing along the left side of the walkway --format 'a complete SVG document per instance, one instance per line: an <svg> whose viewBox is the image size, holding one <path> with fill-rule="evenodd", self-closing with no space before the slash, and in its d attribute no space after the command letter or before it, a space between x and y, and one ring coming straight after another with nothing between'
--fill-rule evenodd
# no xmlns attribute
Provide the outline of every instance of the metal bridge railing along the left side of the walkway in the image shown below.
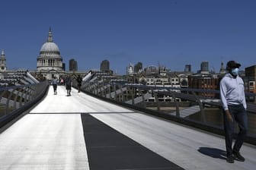
<svg viewBox="0 0 256 170"><path fill-rule="evenodd" d="M0 128L39 101L48 87L47 81L0 87Z"/></svg>

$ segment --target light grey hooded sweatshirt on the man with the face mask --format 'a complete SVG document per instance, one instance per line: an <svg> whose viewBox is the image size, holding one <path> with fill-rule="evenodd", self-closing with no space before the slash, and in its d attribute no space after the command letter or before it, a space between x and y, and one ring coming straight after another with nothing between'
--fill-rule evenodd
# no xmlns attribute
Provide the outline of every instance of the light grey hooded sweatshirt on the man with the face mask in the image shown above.
<svg viewBox="0 0 256 170"><path fill-rule="evenodd" d="M220 99L222 107L226 111L228 105L244 105L245 101L245 84L241 77L232 77L231 74L226 74L220 81Z"/></svg>

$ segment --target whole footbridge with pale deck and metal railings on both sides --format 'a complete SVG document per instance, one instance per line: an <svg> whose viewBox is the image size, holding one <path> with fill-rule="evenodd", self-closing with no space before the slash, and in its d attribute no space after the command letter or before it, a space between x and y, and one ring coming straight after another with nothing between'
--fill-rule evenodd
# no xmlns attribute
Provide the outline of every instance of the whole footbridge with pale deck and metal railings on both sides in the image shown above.
<svg viewBox="0 0 256 170"><path fill-rule="evenodd" d="M60 85L54 95L48 81L1 87L0 169L256 167L254 102L248 102L249 131L241 150L246 160L229 164L218 91L102 76L85 77L81 89L75 80L71 96Z"/></svg>

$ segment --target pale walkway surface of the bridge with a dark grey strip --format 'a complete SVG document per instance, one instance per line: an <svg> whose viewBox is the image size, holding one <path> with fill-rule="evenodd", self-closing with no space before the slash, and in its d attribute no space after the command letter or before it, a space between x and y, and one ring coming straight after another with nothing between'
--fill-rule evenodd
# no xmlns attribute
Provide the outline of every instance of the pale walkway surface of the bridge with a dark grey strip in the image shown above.
<svg viewBox="0 0 256 170"><path fill-rule="evenodd" d="M58 87L0 134L0 169L254 169L226 162L223 137ZM90 167L90 168L89 168Z"/></svg>

